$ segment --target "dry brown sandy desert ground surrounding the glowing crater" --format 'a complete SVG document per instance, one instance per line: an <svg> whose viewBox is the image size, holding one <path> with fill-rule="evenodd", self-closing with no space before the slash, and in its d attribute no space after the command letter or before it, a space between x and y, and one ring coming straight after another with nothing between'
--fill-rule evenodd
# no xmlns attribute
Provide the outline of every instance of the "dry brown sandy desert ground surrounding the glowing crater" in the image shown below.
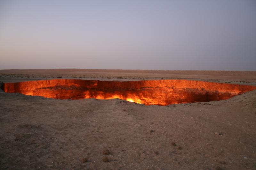
<svg viewBox="0 0 256 170"><path fill-rule="evenodd" d="M247 71L72 70L0 70L0 81L61 76L256 84L256 72ZM256 169L256 91L165 107L0 91L0 103L1 169Z"/></svg>

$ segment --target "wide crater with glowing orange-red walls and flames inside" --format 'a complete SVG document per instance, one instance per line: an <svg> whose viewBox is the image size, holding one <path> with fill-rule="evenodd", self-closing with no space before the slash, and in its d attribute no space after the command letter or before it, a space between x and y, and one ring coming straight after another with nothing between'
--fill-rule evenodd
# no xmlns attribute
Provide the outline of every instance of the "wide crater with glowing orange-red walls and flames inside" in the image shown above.
<svg viewBox="0 0 256 170"><path fill-rule="evenodd" d="M225 100L256 86L213 83L192 80L143 80L143 81L99 81L99 80L39 80L4 83L4 92L43 96L54 99L122 99L146 105Z"/></svg>

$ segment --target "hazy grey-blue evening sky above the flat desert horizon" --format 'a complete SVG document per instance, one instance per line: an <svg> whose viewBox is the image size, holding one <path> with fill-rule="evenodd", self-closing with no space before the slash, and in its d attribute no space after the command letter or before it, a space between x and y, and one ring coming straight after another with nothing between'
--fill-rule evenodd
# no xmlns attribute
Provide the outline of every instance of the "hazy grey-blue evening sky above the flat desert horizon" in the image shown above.
<svg viewBox="0 0 256 170"><path fill-rule="evenodd" d="M0 69L256 71L255 0L0 0Z"/></svg>

